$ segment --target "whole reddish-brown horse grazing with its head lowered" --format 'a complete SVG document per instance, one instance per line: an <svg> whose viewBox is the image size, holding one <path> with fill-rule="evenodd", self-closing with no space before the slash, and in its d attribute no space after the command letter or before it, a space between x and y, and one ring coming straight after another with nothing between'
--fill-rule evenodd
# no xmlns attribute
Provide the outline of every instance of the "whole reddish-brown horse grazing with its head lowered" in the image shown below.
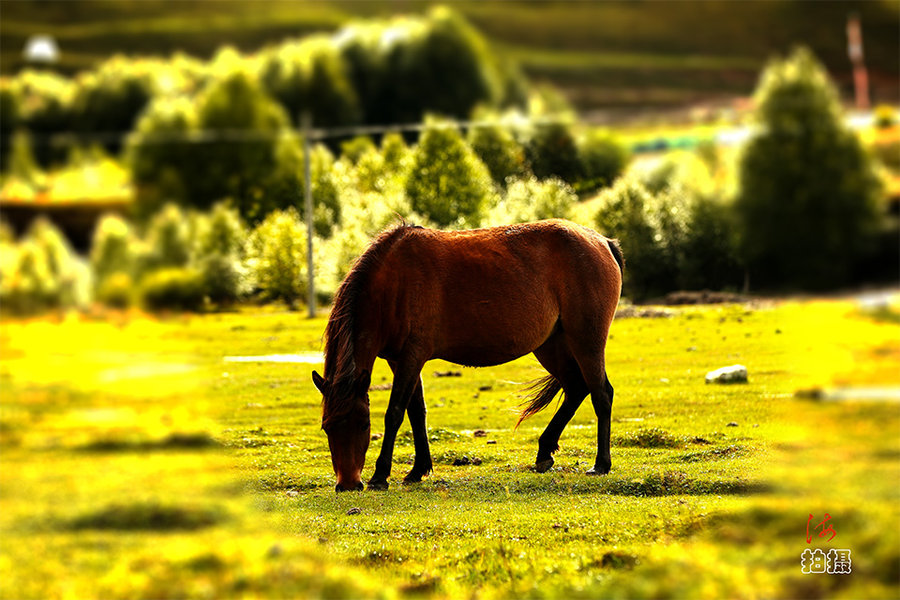
<svg viewBox="0 0 900 600"><path fill-rule="evenodd" d="M421 371L433 358L483 367L533 352L550 375L533 387L519 422L564 393L538 442L536 470L553 465L562 430L590 394L599 426L588 473L608 473L613 388L604 352L622 265L614 240L562 220L452 232L403 224L382 233L337 291L325 376L312 375L337 491L363 487L376 357L388 361L394 382L369 489L388 486L404 413L415 443L404 481L432 470Z"/></svg>

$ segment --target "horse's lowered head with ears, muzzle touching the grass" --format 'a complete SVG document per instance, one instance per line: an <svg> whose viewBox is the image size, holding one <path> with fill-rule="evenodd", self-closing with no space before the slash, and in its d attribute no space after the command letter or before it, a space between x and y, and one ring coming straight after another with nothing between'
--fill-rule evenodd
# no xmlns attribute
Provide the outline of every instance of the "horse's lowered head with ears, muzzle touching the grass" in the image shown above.
<svg viewBox="0 0 900 600"><path fill-rule="evenodd" d="M363 372L353 382L352 388L335 389L332 382L326 381L313 371L313 383L323 397L322 428L328 436L328 447L331 450L331 464L337 475L336 490L361 490L363 488L361 474L366 463L366 450L369 449L369 383L371 375ZM340 394L343 398L336 398ZM347 395L350 395L347 402ZM337 402L349 410L341 410L333 415L329 408Z"/></svg>

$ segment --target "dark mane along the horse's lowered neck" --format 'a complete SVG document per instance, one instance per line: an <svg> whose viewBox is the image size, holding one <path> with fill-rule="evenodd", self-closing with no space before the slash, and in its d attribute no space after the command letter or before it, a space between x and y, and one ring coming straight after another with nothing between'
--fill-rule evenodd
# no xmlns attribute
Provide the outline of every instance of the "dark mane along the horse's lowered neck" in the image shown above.
<svg viewBox="0 0 900 600"><path fill-rule="evenodd" d="M325 381L328 382L329 393L323 396L323 425L350 409L356 385L356 362L353 357L353 338L358 325L356 305L366 292L369 275L394 243L415 228L401 221L399 225L379 234L356 259L338 287L325 327Z"/></svg>

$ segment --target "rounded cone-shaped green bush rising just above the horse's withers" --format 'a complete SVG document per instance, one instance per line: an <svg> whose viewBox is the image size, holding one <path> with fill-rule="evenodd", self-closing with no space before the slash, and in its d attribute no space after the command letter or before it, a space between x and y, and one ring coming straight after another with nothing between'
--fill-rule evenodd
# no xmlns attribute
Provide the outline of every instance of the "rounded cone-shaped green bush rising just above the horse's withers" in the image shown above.
<svg viewBox="0 0 900 600"><path fill-rule="evenodd" d="M412 210L441 227L476 227L491 194L490 173L455 127L431 120L413 152L406 194Z"/></svg>

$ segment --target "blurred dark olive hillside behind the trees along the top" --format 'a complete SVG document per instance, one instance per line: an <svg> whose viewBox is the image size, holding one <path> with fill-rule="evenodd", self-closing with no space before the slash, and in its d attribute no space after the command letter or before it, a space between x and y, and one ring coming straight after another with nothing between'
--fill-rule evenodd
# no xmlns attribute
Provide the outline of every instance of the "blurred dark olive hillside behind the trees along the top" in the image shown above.
<svg viewBox="0 0 900 600"><path fill-rule="evenodd" d="M49 33L72 73L114 53L207 58L222 45L252 51L286 37L332 32L356 18L421 13L429 3L4 2L0 72L21 69L21 49ZM900 99L900 3L455 2L535 81L562 89L583 112L667 108L746 96L766 61L809 46L842 92L851 91L844 28L863 24L875 102Z"/></svg>

